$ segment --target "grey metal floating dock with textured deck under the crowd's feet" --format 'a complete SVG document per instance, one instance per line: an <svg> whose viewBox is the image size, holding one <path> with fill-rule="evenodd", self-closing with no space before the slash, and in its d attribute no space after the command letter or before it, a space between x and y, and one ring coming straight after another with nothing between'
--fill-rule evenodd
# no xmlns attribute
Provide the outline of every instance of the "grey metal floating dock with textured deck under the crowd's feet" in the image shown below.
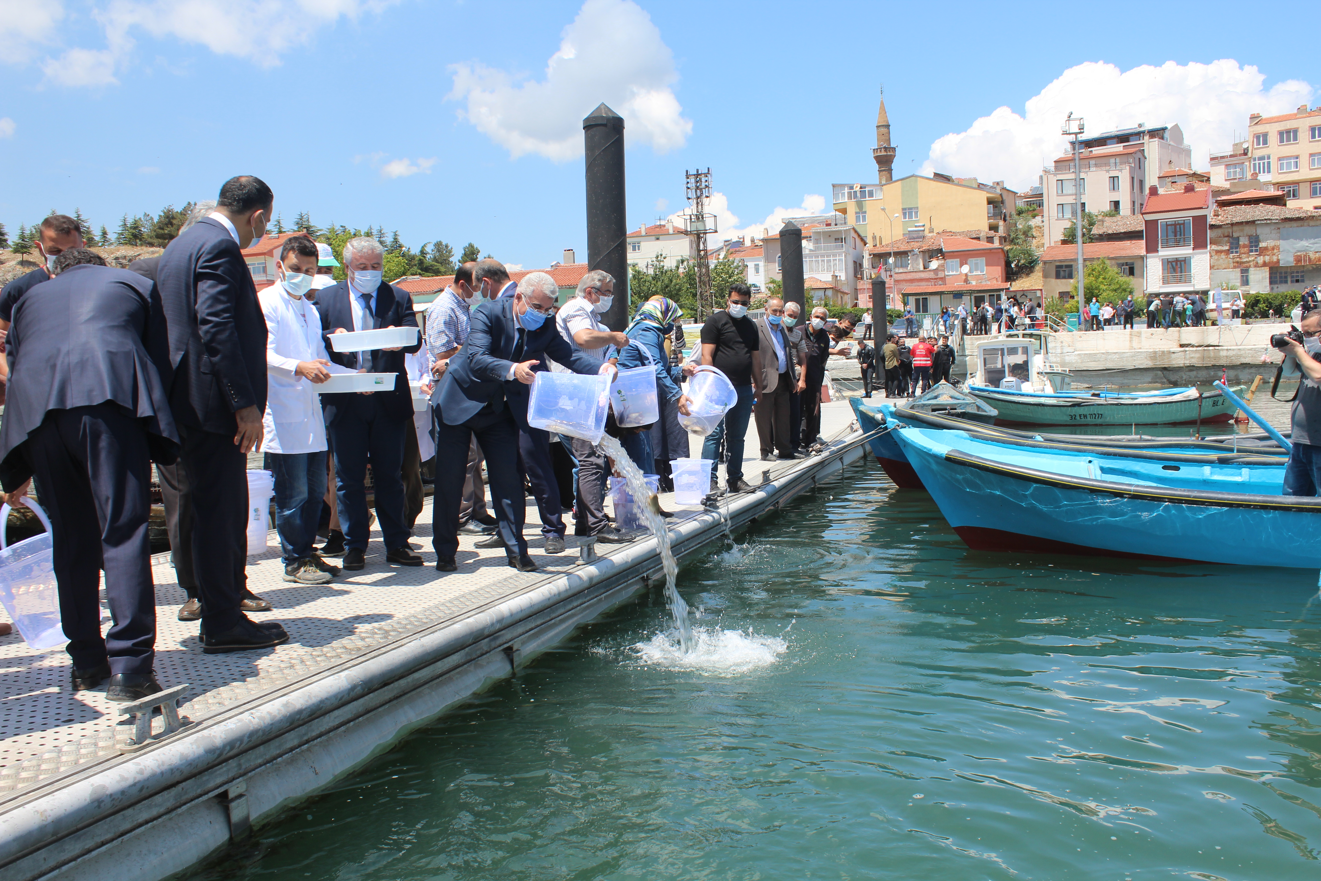
<svg viewBox="0 0 1321 881"><path fill-rule="evenodd" d="M822 405L822 436L816 456L762 462L750 424L744 479L754 491L716 510L662 495L675 556L773 514L865 452L844 400ZM585 564L572 535L564 553L543 553L535 506L526 534L538 572L509 568L502 549L477 551L470 536L460 536L458 572L436 572L429 501L415 534L425 567L386 565L374 531L366 569L316 586L281 580L272 534L248 560L248 586L275 606L254 617L284 623L291 642L226 655L203 655L197 623L176 619L185 596L169 556L156 557L156 674L166 688L189 684L189 724L133 753L120 752L132 724L104 689L70 691L63 650L0 637L0 877L152 881L197 865L664 579L650 535Z"/></svg>

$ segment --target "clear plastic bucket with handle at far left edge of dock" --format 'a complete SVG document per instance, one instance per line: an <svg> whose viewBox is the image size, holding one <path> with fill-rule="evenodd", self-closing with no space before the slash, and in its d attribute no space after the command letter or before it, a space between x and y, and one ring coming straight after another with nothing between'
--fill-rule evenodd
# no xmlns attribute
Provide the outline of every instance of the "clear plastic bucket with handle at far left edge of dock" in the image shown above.
<svg viewBox="0 0 1321 881"><path fill-rule="evenodd" d="M69 642L59 626L59 588L55 585L50 520L36 502L29 498L21 501L46 531L7 547L9 506L0 506L0 604L4 604L24 642L45 651Z"/></svg>

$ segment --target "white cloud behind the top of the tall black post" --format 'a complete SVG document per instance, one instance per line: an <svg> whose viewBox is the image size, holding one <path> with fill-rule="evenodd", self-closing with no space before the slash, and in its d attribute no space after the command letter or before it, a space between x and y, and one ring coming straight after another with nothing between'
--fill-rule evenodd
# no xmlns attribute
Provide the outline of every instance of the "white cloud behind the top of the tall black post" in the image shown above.
<svg viewBox="0 0 1321 881"><path fill-rule="evenodd" d="M460 116L511 156L538 153L556 162L583 155L581 120L601 102L624 118L627 143L658 153L683 147L692 122L682 116L674 53L631 0L587 0L560 34L544 78L450 65L448 98L466 102Z"/></svg>

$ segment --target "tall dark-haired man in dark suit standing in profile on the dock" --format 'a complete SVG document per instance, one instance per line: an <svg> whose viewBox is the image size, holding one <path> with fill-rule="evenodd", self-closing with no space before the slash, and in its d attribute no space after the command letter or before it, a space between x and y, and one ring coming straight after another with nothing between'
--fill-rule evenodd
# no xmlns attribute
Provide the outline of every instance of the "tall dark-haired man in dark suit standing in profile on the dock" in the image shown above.
<svg viewBox="0 0 1321 881"><path fill-rule="evenodd" d="M193 563L207 654L287 642L240 608L247 585L247 454L262 440L266 318L242 248L266 234L275 195L230 178L210 215L170 242L156 268L174 371L170 407L192 486Z"/></svg>

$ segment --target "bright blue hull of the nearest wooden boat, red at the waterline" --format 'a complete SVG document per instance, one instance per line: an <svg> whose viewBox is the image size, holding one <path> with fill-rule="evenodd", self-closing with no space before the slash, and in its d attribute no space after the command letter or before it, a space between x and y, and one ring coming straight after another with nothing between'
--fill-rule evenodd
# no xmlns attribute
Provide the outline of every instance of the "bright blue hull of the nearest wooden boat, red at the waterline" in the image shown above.
<svg viewBox="0 0 1321 881"><path fill-rule="evenodd" d="M945 448L914 429L893 433L941 514L970 548L1321 565L1321 555L1297 540L1321 526L1321 505L1313 499L1125 487Z"/></svg>

